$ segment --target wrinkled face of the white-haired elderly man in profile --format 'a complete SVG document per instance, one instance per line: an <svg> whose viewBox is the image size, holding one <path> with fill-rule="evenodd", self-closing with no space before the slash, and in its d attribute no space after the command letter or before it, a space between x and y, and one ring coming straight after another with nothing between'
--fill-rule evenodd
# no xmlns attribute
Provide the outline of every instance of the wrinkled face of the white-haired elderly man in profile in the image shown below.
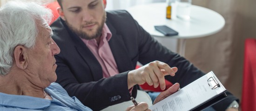
<svg viewBox="0 0 256 111"><path fill-rule="evenodd" d="M57 65L54 55L60 53L60 48L51 38L52 30L39 28L39 35L36 38L35 47L28 51L27 74L30 74L30 81L36 86L47 87L57 79L55 70Z"/></svg>

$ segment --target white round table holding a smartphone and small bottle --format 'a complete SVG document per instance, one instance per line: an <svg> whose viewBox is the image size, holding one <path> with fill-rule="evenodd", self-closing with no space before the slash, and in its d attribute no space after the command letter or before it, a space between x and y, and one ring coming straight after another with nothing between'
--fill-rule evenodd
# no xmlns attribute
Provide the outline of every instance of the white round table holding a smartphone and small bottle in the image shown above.
<svg viewBox="0 0 256 111"><path fill-rule="evenodd" d="M155 30L155 25L167 25L178 31L177 36L171 36L170 38L181 39L179 53L182 56L184 56L185 51L185 39L215 34L225 25L225 20L219 13L195 5L191 5L189 20L176 18L176 3L172 4L172 19L166 19L166 6L166 3L153 3L133 6L128 8L127 11L153 37L165 37Z"/></svg>

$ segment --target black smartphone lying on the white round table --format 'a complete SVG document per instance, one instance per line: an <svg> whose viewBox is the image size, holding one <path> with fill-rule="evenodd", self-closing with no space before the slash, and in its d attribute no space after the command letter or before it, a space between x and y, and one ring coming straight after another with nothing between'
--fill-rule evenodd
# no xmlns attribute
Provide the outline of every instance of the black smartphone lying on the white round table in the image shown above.
<svg viewBox="0 0 256 111"><path fill-rule="evenodd" d="M168 27L166 25L155 26L155 30L161 32L165 36L175 36L175 35L179 34L177 31L171 29L170 27Z"/></svg>

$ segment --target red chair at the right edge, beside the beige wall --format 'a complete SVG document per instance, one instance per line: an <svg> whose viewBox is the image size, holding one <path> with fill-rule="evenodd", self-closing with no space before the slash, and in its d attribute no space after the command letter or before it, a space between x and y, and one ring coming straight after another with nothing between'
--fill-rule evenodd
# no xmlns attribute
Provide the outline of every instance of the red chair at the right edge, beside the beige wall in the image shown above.
<svg viewBox="0 0 256 111"><path fill-rule="evenodd" d="M256 39L246 39L243 65L242 111L256 111Z"/></svg>

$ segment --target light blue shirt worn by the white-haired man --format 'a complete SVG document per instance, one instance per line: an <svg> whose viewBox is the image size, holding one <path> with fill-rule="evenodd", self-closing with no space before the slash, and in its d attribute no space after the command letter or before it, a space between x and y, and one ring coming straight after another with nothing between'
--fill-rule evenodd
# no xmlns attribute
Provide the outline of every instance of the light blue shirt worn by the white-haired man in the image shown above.
<svg viewBox="0 0 256 111"><path fill-rule="evenodd" d="M53 100L0 93L0 111L92 111L77 98L69 97L58 83L45 88Z"/></svg>

